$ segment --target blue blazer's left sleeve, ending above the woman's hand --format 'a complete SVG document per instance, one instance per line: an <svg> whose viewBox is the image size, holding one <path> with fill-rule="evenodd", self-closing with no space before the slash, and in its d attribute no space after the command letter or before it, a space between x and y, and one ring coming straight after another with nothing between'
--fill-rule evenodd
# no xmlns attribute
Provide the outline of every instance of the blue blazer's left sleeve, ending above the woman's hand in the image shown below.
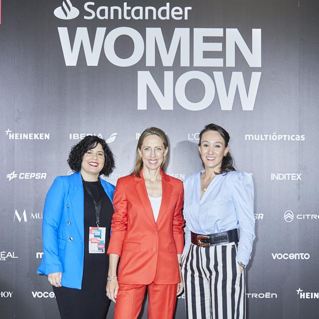
<svg viewBox="0 0 319 319"><path fill-rule="evenodd" d="M63 265L58 249L58 228L60 225L64 201L64 184L62 176L57 176L45 197L42 239L43 239L43 266L44 275L52 272L63 272ZM41 266L40 266L41 267ZM40 269L39 267L39 269Z"/></svg>

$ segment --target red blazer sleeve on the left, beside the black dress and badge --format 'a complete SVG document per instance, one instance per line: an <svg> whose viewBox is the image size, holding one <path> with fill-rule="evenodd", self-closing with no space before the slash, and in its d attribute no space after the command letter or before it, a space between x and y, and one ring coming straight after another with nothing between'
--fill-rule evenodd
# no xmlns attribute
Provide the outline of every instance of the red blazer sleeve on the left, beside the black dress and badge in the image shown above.
<svg viewBox="0 0 319 319"><path fill-rule="evenodd" d="M127 199L121 178L118 179L113 196L114 213L111 222L111 237L107 254L122 255L122 246L127 229Z"/></svg>

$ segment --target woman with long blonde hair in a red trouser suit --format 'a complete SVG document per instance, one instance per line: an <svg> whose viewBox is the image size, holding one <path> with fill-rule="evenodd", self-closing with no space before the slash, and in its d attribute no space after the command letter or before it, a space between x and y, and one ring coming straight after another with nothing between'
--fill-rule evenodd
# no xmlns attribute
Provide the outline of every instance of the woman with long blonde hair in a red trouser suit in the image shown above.
<svg viewBox="0 0 319 319"><path fill-rule="evenodd" d="M132 174L117 183L106 286L116 303L116 319L138 317L146 287L148 318L170 319L176 294L183 291L184 190L179 179L162 170L167 155L165 133L156 127L146 129L136 147Z"/></svg>

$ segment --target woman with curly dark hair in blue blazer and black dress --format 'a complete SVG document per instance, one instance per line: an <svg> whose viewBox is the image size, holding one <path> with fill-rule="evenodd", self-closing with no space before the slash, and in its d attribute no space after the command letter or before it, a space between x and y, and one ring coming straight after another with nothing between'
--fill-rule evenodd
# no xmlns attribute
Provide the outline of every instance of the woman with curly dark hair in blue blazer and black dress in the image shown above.
<svg viewBox="0 0 319 319"><path fill-rule="evenodd" d="M62 319L104 319L115 187L100 175L112 172L113 154L103 139L86 136L67 162L75 173L56 177L45 198L37 273L53 285Z"/></svg>

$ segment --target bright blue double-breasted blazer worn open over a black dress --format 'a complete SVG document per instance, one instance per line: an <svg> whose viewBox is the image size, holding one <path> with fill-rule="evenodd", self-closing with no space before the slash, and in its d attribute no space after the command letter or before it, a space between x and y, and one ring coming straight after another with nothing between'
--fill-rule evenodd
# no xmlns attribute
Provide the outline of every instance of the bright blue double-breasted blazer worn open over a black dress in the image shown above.
<svg viewBox="0 0 319 319"><path fill-rule="evenodd" d="M101 179L111 202L115 186ZM81 289L84 260L84 192L80 172L54 179L45 198L43 258L38 274L62 272L61 285Z"/></svg>

